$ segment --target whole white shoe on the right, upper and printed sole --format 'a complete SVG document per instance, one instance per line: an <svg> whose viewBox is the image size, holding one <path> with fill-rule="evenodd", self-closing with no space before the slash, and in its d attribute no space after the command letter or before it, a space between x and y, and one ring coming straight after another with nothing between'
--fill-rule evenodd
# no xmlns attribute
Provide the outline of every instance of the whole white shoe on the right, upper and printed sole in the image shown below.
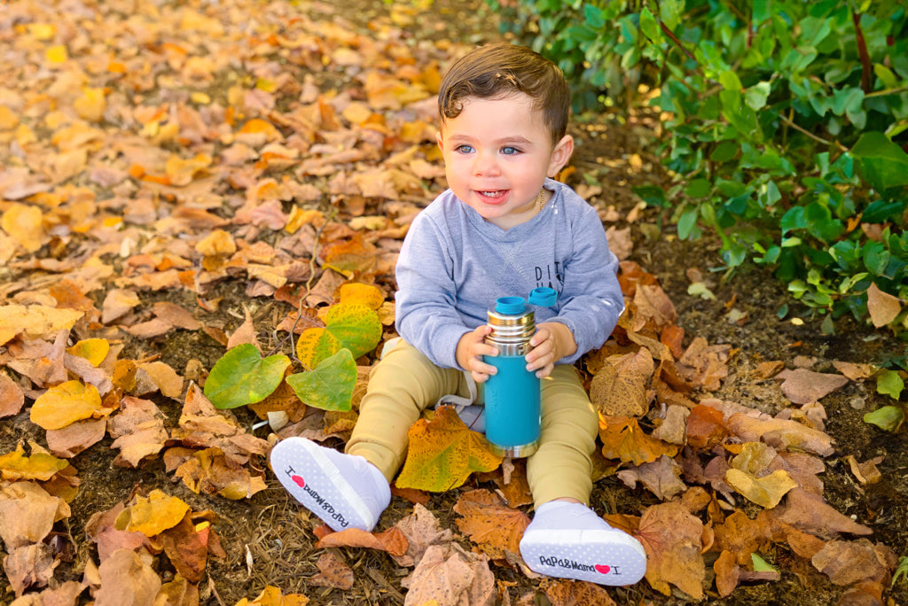
<svg viewBox="0 0 908 606"><path fill-rule="evenodd" d="M640 581L646 574L643 545L609 526L585 505L567 504L573 507L537 515L524 532L520 555L529 569L550 577L599 585L632 585ZM589 514L577 513L577 507Z"/></svg>

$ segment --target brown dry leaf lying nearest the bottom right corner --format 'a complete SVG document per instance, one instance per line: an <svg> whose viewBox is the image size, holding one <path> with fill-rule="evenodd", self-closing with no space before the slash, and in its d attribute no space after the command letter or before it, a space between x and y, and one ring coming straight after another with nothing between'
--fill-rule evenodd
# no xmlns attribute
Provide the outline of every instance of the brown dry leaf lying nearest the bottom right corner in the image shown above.
<svg viewBox="0 0 908 606"><path fill-rule="evenodd" d="M861 581L888 582L895 569L893 550L867 539L830 541L811 558L816 570L836 585Z"/></svg>

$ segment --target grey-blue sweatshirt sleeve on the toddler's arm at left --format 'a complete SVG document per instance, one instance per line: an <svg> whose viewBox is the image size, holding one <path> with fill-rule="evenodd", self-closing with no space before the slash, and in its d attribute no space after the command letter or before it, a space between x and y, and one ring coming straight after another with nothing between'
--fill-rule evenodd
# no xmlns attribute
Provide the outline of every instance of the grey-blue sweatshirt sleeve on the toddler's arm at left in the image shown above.
<svg viewBox="0 0 908 606"><path fill-rule="evenodd" d="M395 294L398 334L439 367L459 368L457 344L470 331L456 308L454 243L425 212L400 249Z"/></svg>

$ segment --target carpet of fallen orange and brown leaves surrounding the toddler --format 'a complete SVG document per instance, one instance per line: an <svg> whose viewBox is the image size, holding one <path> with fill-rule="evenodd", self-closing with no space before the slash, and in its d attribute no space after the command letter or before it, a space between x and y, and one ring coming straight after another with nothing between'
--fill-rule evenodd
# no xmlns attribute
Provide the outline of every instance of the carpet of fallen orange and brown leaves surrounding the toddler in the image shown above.
<svg viewBox="0 0 908 606"><path fill-rule="evenodd" d="M593 505L644 544L646 580L530 572L525 465L447 408L411 428L375 533L332 533L283 493L271 445L349 437L401 240L444 188L433 95L468 46L407 34L416 6L359 33L320 3L2 5L0 601L718 602L794 577L882 604L897 554L824 498L849 445L821 402L877 368L766 361L750 378L772 406L718 397L740 350L676 324L630 260L638 209L582 165L566 178L600 208L627 302L582 363ZM857 491L880 480L880 458L845 460Z"/></svg>

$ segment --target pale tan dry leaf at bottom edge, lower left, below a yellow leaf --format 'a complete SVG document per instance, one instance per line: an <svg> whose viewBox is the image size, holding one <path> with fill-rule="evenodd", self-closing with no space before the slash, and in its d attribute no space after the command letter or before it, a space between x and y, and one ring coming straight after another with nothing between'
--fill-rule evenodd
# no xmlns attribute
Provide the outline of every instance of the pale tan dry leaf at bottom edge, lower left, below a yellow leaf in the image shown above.
<svg viewBox="0 0 908 606"><path fill-rule="evenodd" d="M101 586L94 592L94 606L153 604L161 591L161 577L135 552L118 549L98 567Z"/></svg>

